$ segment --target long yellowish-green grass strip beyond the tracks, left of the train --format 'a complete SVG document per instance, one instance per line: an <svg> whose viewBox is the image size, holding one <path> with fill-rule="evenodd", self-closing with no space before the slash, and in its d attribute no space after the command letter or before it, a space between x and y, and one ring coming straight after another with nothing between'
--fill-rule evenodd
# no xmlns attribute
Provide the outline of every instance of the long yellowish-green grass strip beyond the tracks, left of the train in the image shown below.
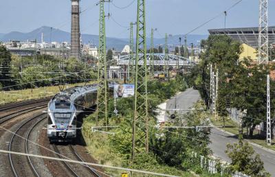
<svg viewBox="0 0 275 177"><path fill-rule="evenodd" d="M89 84L92 84L89 83ZM72 86L82 86L84 83L69 84L65 88ZM6 104L11 102L20 102L28 99L39 99L43 97L50 97L59 92L58 86L44 86L39 88L28 88L18 91L1 91L0 92L0 104Z"/></svg>

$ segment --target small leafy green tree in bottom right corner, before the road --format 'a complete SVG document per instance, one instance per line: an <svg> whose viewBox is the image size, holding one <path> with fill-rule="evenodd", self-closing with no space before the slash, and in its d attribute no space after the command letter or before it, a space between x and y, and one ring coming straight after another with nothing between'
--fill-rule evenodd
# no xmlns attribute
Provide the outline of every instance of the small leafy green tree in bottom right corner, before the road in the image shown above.
<svg viewBox="0 0 275 177"><path fill-rule="evenodd" d="M225 153L232 161L229 167L231 173L242 172L250 176L270 176L265 172L259 154L254 156L253 147L248 142L243 143L241 135L239 136L239 143L228 144Z"/></svg>

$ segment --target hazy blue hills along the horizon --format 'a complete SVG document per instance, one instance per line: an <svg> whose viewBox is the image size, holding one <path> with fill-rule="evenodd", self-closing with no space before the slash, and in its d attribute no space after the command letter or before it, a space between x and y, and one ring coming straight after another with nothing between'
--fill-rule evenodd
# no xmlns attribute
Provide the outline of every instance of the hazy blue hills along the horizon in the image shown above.
<svg viewBox="0 0 275 177"><path fill-rule="evenodd" d="M51 33L52 31L52 33ZM34 29L32 32L22 33L22 32L10 32L8 34L0 34L0 40L3 42L7 42L10 40L35 40L37 39L38 42L41 42L41 34L43 33L43 40L45 42L56 41L56 42L64 42L70 41L70 33L64 32L61 29L55 29L47 26L40 27L38 29ZM189 35L188 36L188 44L194 43L197 44L197 40L201 40L207 38L208 35ZM92 34L82 34L83 43L91 43L98 45L98 35ZM148 38L147 47L150 47L150 39ZM154 39L155 45L163 45L165 43L164 38L155 38ZM178 45L179 44L179 35L172 36L168 39L168 43L170 45ZM184 38L182 39L182 44L184 44ZM111 38L107 37L107 48L114 47L115 49L122 50L124 45L129 44L128 38Z"/></svg>

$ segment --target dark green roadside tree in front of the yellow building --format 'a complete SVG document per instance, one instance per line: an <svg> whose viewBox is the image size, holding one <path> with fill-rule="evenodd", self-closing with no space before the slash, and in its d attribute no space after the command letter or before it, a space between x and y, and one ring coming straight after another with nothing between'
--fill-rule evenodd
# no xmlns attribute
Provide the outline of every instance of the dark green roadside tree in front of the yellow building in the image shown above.
<svg viewBox="0 0 275 177"><path fill-rule="evenodd" d="M249 60L239 63L234 78L230 80L233 91L231 91L232 107L238 110L246 110L243 117L243 127L247 127L250 137L253 136L256 125L266 119L266 94L267 74L269 67L265 64L251 64ZM256 84L255 84L256 83ZM271 90L274 88L274 81L270 82ZM271 99L272 105L275 100ZM272 110L274 114L274 110Z"/></svg>

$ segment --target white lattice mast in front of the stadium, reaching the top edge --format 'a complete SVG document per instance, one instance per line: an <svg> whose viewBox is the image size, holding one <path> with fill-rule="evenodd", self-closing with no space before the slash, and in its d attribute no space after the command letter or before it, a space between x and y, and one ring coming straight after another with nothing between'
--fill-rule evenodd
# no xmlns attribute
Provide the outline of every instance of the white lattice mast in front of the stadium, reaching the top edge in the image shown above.
<svg viewBox="0 0 275 177"><path fill-rule="evenodd" d="M268 0L259 2L259 64L268 64Z"/></svg>

